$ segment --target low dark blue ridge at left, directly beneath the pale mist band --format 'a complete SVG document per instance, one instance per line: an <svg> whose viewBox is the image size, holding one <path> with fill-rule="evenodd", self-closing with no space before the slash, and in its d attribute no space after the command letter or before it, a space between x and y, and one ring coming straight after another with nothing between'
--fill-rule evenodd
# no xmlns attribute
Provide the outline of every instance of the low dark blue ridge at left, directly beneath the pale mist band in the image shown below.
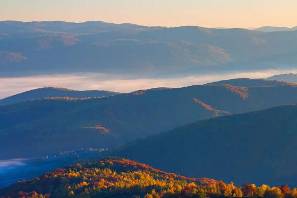
<svg viewBox="0 0 297 198"><path fill-rule="evenodd" d="M68 97L68 98L95 98L95 97L109 97L120 93L109 91L76 91L66 88L40 88L20 93L5 99L0 99L0 105L13 104L17 102L27 101L31 99Z"/></svg>

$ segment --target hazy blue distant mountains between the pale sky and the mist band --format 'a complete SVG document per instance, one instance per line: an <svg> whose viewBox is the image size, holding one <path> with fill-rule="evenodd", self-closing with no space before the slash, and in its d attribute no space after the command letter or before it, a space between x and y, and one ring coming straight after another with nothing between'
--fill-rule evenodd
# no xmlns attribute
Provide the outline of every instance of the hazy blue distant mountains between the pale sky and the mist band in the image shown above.
<svg viewBox="0 0 297 198"><path fill-rule="evenodd" d="M281 65L277 69L288 69L297 60L296 31L57 21L4 21L0 31L0 51L26 57L0 67L2 76L24 72L182 75L276 69L274 63Z"/></svg>

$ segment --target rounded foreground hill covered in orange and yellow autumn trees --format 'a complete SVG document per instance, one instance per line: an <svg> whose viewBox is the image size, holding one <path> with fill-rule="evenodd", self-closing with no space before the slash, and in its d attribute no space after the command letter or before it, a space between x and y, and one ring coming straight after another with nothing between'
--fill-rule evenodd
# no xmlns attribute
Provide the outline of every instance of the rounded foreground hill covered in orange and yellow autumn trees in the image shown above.
<svg viewBox="0 0 297 198"><path fill-rule="evenodd" d="M223 184L223 183L222 183ZM187 186L205 188L218 185L212 179L186 178L166 173L128 159L109 157L101 161L59 168L41 177L18 182L0 190L0 196L31 197L112 197L133 195L144 197L153 189L156 193L180 192ZM50 187L50 188L49 188Z"/></svg>

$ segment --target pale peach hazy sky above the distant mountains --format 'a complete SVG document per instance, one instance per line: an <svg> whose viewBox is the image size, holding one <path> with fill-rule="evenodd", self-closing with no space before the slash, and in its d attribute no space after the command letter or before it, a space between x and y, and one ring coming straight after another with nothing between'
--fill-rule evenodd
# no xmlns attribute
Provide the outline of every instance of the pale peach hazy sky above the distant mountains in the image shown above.
<svg viewBox="0 0 297 198"><path fill-rule="evenodd" d="M294 27L296 10L297 0L0 0L0 21Z"/></svg>

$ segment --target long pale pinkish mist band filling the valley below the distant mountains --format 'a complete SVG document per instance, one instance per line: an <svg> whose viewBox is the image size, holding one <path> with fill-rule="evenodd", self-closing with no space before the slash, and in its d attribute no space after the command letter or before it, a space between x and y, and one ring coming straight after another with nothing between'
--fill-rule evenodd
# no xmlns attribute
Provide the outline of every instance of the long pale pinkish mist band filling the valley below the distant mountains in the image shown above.
<svg viewBox="0 0 297 198"><path fill-rule="evenodd" d="M297 73L297 70L264 70L258 72L193 75L177 78L145 79L129 75L104 73L74 73L0 78L0 99L43 87L63 87L73 90L107 90L129 93L156 87L179 88L234 78L267 78L276 74Z"/></svg>

